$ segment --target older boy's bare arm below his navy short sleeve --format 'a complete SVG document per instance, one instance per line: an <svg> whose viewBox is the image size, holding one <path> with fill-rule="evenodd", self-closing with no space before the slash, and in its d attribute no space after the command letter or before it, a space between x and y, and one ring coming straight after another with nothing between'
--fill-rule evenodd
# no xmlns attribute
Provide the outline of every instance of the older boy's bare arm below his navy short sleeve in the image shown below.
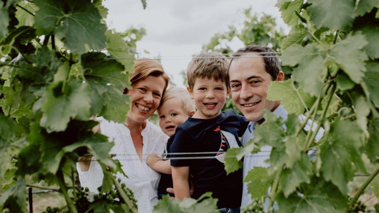
<svg viewBox="0 0 379 213"><path fill-rule="evenodd" d="M183 200L190 198L189 194L189 167L175 167L172 166L172 182L174 187L175 198Z"/></svg>

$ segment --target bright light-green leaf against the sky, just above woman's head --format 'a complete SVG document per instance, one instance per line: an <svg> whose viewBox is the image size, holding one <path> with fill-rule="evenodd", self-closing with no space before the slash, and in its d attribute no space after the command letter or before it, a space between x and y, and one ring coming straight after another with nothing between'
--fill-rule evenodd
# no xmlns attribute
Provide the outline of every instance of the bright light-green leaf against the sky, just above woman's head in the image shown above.
<svg viewBox="0 0 379 213"><path fill-rule="evenodd" d="M127 73L133 73L134 55L130 53L128 44L122 39L121 34L107 30L105 32L107 37L106 49L116 58L118 62L124 65L124 70ZM129 82L129 81L128 81ZM128 88L130 85L128 84Z"/></svg>

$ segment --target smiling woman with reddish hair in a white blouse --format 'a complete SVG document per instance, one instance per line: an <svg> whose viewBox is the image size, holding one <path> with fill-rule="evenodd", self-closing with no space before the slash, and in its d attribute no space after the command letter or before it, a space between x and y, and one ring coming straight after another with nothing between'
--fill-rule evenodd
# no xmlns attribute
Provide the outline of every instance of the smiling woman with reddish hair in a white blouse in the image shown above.
<svg viewBox="0 0 379 213"><path fill-rule="evenodd" d="M142 59L135 61L129 80L132 90L125 90L125 93L130 95L131 107L125 123L109 122L100 117L97 132L115 142L110 153L116 154L114 159L120 160L128 176L120 175L121 183L133 190L138 212L151 213L158 200L156 189L160 174L146 164L143 156L163 153L168 137L147 119L158 108L169 77L159 62ZM103 182L103 170L97 161L81 161L77 170L81 185L97 192Z"/></svg>

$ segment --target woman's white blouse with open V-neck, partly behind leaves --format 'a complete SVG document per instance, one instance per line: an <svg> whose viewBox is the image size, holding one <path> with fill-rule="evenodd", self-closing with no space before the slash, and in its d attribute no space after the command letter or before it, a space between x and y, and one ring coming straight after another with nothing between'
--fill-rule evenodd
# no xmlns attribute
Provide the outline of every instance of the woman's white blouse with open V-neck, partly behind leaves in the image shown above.
<svg viewBox="0 0 379 213"><path fill-rule="evenodd" d="M140 161L136 149L134 148L132 137L129 129L122 123L107 121L102 117L100 128L102 134L114 141L109 154L116 154L114 159L121 163L122 170L129 178L125 178L118 173L116 178L121 178L121 183L134 192L137 199L138 213L151 213L154 205L158 201L157 188L160 174L146 164L146 158L152 153L163 153L166 147L168 136L160 128L156 127L149 121L146 121L146 127L142 130L143 137L143 158ZM98 192L97 188L103 183L103 170L98 162L92 157L88 171L83 172L79 165L76 166L79 173L80 184L88 187L91 192Z"/></svg>

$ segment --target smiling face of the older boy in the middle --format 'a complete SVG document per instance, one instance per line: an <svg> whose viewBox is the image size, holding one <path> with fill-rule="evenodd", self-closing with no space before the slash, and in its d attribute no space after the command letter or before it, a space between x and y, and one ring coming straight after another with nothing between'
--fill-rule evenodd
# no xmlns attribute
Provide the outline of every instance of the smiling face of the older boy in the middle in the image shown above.
<svg viewBox="0 0 379 213"><path fill-rule="evenodd" d="M193 89L187 88L197 108L193 118L212 119L220 115L229 98L226 83L221 80L196 78Z"/></svg>

